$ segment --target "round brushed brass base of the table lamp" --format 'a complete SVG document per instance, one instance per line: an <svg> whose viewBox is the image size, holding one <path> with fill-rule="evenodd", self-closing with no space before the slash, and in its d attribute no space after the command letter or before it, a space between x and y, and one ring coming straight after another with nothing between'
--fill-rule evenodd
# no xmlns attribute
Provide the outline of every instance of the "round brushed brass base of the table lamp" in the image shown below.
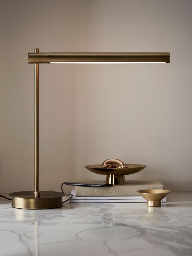
<svg viewBox="0 0 192 256"><path fill-rule="evenodd" d="M40 191L35 197L34 191L20 191L9 194L12 197L12 207L20 209L51 209L62 206L61 192Z"/></svg>

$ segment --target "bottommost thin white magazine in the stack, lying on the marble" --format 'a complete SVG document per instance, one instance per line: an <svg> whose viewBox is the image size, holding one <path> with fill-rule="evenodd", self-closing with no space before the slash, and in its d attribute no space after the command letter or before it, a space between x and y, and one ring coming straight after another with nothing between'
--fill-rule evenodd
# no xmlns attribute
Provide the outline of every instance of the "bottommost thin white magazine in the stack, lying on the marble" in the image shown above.
<svg viewBox="0 0 192 256"><path fill-rule="evenodd" d="M79 200L76 200L76 199L70 199L69 200L70 203L145 203L147 202L147 200L145 199L119 199L119 200L115 200L115 199L112 199L112 200L83 200L83 199L79 199ZM161 202L166 202L166 199L162 199Z"/></svg>

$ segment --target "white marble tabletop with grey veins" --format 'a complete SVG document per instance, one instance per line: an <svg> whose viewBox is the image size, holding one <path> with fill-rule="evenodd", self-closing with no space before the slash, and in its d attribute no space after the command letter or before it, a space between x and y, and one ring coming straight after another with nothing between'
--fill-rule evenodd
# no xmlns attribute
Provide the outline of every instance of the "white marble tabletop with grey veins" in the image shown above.
<svg viewBox="0 0 192 256"><path fill-rule="evenodd" d="M21 210L0 199L1 256L192 255L192 192L146 203Z"/></svg>

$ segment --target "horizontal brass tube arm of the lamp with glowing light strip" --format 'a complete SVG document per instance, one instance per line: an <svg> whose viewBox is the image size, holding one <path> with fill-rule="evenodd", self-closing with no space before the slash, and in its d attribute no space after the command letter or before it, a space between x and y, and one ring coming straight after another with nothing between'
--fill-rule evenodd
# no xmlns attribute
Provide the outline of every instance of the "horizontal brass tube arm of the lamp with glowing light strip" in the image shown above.
<svg viewBox="0 0 192 256"><path fill-rule="evenodd" d="M74 52L28 53L28 63L169 63L169 52Z"/></svg>

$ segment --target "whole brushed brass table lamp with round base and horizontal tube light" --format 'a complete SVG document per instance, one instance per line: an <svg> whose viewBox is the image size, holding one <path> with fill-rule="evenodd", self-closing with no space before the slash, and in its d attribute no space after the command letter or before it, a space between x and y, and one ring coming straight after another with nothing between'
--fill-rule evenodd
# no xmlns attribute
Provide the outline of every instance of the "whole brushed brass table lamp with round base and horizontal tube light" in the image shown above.
<svg viewBox="0 0 192 256"><path fill-rule="evenodd" d="M34 95L34 191L20 191L9 194L12 207L21 209L49 209L62 206L61 192L39 191L39 63L169 63L170 53L28 53L28 63L35 64L35 95Z"/></svg>

